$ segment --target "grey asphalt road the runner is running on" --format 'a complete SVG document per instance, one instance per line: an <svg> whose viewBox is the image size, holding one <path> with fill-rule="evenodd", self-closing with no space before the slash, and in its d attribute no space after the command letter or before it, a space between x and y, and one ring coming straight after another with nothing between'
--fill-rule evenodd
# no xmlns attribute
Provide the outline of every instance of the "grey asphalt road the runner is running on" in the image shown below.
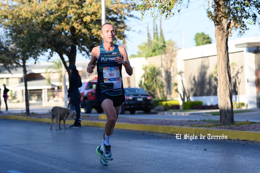
<svg viewBox="0 0 260 173"><path fill-rule="evenodd" d="M103 128L50 130L49 123L0 119L0 173L259 173L260 143L176 139L115 129L114 160L99 164Z"/></svg>

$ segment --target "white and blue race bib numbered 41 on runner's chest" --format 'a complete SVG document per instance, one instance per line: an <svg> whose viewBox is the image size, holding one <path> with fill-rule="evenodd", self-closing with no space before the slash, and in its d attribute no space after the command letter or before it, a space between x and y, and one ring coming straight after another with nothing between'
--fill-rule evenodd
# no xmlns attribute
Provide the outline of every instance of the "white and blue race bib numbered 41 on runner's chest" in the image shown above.
<svg viewBox="0 0 260 173"><path fill-rule="evenodd" d="M119 77L120 77L119 67L104 67L103 76L104 76L104 83L119 82Z"/></svg>

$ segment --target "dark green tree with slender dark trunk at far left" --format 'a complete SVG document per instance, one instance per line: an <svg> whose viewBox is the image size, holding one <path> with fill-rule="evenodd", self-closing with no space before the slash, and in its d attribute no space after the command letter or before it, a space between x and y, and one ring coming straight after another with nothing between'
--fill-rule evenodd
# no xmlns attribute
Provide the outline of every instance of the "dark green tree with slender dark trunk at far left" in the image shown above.
<svg viewBox="0 0 260 173"><path fill-rule="evenodd" d="M31 28L30 23L27 23L23 27L14 27L7 24L4 32L6 39L3 47L5 52L1 54L1 59L4 60L3 62L6 64L4 67L7 70L15 68L16 66L21 66L23 68L26 115L30 115L26 62L30 58L33 58L36 61L37 57L40 56L42 52L46 51L42 49L42 42L37 40L38 36L43 33L38 32L38 34L35 35L36 32L34 28Z"/></svg>

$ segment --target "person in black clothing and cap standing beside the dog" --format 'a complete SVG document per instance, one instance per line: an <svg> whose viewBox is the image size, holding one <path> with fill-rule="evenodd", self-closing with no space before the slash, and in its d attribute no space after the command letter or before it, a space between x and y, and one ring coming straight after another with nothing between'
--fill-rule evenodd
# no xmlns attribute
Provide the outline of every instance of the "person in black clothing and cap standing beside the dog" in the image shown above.
<svg viewBox="0 0 260 173"><path fill-rule="evenodd" d="M71 72L71 76L69 77L69 89L68 89L68 100L71 101L74 111L77 114L77 119L74 124L69 128L78 128L81 127L80 121L80 92L78 90L79 87L82 86L81 77L78 74L78 70L74 64L69 66L69 70Z"/></svg>

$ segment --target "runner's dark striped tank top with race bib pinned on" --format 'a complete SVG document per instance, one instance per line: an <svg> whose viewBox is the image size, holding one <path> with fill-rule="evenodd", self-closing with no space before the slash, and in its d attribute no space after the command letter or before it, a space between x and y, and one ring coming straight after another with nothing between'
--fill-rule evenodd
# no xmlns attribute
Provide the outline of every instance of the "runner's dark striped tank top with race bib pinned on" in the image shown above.
<svg viewBox="0 0 260 173"><path fill-rule="evenodd" d="M115 61L115 57L121 57L118 45L114 44L112 51L106 51L102 44L99 45L99 51L99 59L96 63L98 72L96 90L111 96L124 94L122 64Z"/></svg>

